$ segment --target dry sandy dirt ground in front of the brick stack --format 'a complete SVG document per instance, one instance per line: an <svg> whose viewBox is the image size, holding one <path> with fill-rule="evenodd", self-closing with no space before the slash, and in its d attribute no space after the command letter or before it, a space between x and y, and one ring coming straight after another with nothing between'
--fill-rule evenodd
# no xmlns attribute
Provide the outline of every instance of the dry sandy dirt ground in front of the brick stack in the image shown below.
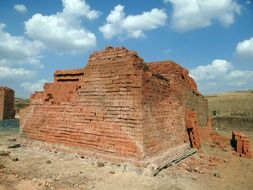
<svg viewBox="0 0 253 190"><path fill-rule="evenodd" d="M219 133L231 136L231 131ZM243 133L253 145L253 131ZM253 159L234 155L229 142L222 141L202 141L201 151L150 177L124 165L46 150L36 143L27 145L18 129L2 130L0 190L253 189ZM9 147L19 143L21 147Z"/></svg>

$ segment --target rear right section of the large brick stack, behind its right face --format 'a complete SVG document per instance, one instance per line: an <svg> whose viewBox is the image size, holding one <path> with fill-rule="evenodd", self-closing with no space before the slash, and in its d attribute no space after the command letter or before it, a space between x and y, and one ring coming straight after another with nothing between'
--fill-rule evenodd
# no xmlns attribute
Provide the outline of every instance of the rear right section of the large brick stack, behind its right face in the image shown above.
<svg viewBox="0 0 253 190"><path fill-rule="evenodd" d="M159 73L169 80L172 94L181 96L185 107L196 112L199 127L205 127L208 119L207 100L198 92L188 70L173 61L151 62L148 67L153 73Z"/></svg>

